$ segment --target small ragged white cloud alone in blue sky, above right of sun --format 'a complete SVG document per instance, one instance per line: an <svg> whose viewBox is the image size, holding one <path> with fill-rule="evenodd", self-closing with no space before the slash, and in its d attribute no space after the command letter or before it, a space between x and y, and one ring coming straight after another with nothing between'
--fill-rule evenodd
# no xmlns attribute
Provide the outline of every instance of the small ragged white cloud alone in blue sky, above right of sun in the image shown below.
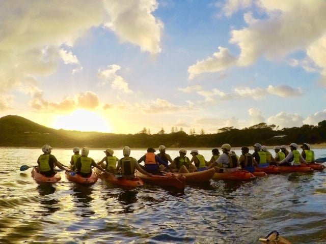
<svg viewBox="0 0 326 244"><path fill-rule="evenodd" d="M108 65L106 69L99 69L97 75L102 81L99 85L111 83L111 87L114 89L121 90L124 93L132 93L132 90L128 87L128 83L116 74L120 69L121 67L119 65Z"/></svg>

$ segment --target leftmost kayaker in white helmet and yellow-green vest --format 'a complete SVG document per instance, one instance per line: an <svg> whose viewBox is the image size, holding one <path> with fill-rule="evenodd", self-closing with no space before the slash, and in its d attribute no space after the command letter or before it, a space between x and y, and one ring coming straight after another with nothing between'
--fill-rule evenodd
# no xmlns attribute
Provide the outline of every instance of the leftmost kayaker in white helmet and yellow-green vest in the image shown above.
<svg viewBox="0 0 326 244"><path fill-rule="evenodd" d="M68 167L61 164L54 155L51 155L52 147L50 145L44 145L42 151L43 154L37 159L37 172L51 177L56 174L56 166L60 169L68 169Z"/></svg>

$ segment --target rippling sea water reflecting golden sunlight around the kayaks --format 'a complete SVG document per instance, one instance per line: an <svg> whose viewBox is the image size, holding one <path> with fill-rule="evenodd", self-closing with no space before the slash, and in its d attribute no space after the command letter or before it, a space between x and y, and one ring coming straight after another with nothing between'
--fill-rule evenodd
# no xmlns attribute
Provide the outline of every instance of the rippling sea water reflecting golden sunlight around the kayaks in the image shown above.
<svg viewBox="0 0 326 244"><path fill-rule="evenodd" d="M0 243L260 243L272 230L296 244L326 242L325 172L128 191L101 179L79 186L63 173L57 184L38 185L31 169L19 167L35 165L40 154L0 148ZM52 154L68 165L72 150ZM210 150L200 154L211 157ZM121 150L115 155L121 158ZM315 155L325 157L326 149ZM103 150L91 150L90 157L101 160Z"/></svg>

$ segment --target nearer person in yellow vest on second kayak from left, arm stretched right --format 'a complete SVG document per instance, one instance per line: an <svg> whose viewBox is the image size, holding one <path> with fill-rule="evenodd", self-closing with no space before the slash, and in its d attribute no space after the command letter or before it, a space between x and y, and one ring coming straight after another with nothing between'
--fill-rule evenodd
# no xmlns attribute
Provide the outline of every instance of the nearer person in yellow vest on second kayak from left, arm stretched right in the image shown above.
<svg viewBox="0 0 326 244"><path fill-rule="evenodd" d="M77 174L82 177L88 178L92 175L92 167L98 168L100 171L107 173L101 166L97 165L95 161L88 157L90 150L87 147L82 148L82 156L76 160Z"/></svg>

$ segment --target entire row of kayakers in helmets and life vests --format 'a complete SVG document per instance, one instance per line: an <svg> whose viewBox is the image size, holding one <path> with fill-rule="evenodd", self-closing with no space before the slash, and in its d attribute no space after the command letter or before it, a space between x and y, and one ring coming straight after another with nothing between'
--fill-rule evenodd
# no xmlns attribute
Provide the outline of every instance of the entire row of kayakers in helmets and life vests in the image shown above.
<svg viewBox="0 0 326 244"><path fill-rule="evenodd" d="M38 163L38 172L46 176L55 174L55 167L60 169L71 170L83 177L90 177L92 168L96 167L100 171L112 174L121 174L127 178L134 177L134 170L137 169L143 174L151 175L157 174L161 171L178 171L180 173L187 173L192 171L201 171L208 168L214 168L216 172L234 172L240 168L249 172L255 171L255 166L266 167L268 165L293 165L297 166L301 163L314 163L314 152L310 150L310 145L304 143L302 145L302 153L297 150L297 144L290 144L290 151L286 149L285 145L275 146L275 157L271 155L267 147L256 143L254 145L254 153L249 153L249 147L241 147L241 156L238 157L231 145L225 143L221 146L222 154L218 148L212 149L212 157L206 161L204 156L199 154L198 150L192 150L189 159L186 154L187 150L181 148L179 156L174 160L170 155L166 154L166 147L160 145L158 147L159 153L155 154L155 149L149 147L147 153L139 160L130 156L131 149L128 146L122 148L123 158L118 159L114 156L114 150L106 148L103 152L105 157L96 163L92 158L88 157L89 149L83 147L81 152L79 147L73 148L73 155L70 160L70 167L61 164L55 156L51 155L51 146L44 145L42 147L43 155L40 155ZM80 154L81 153L81 154ZM144 162L144 166L140 163ZM170 164L169 164L170 163Z"/></svg>

